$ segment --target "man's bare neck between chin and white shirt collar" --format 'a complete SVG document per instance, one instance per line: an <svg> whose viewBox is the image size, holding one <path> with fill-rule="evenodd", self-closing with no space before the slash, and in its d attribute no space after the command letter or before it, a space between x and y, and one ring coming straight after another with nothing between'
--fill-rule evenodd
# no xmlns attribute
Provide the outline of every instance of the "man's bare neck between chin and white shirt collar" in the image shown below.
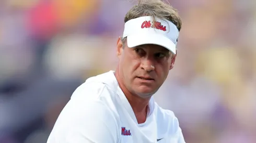
<svg viewBox="0 0 256 143"><path fill-rule="evenodd" d="M139 97L136 94L133 94L127 89L123 83L123 78L119 73L119 70L117 68L115 72L115 77L117 78L118 84L120 88L122 89L125 97L129 101L133 112L137 118L138 123L144 123L146 121L147 116L147 106L149 103L150 98L142 98Z"/></svg>

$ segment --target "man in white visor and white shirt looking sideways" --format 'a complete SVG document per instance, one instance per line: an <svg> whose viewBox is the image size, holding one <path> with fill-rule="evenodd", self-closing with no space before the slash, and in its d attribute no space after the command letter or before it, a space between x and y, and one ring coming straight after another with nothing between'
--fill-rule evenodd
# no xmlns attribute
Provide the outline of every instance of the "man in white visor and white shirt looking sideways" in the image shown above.
<svg viewBox="0 0 256 143"><path fill-rule="evenodd" d="M139 1L124 21L116 71L75 90L48 143L185 142L176 116L152 97L176 59L177 11L159 0Z"/></svg>

